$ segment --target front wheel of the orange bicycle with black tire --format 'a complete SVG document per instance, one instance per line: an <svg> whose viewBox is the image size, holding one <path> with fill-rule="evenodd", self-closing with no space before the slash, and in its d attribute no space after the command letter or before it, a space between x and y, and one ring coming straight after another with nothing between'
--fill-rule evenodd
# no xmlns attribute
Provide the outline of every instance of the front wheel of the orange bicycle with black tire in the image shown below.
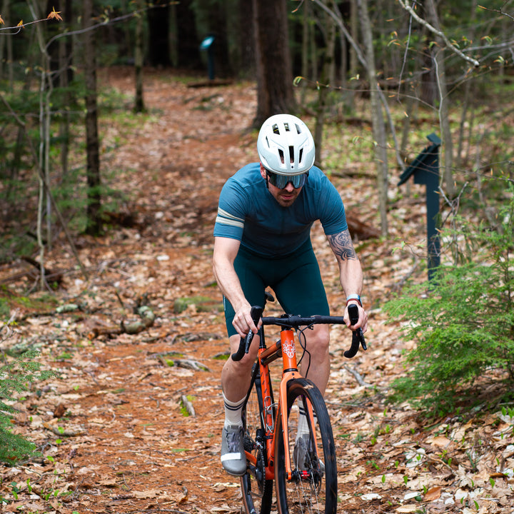
<svg viewBox="0 0 514 514"><path fill-rule="evenodd" d="M294 463L295 439L298 428L299 400L311 403L317 423L308 422L309 448L316 440L316 451L310 450L300 475ZM304 403L306 405L306 403ZM336 514L337 511L337 465L336 448L333 440L330 418L320 390L306 378L296 378L288 383L287 389L288 426L290 455L284 454L283 426L279 416L275 443L275 482L279 514ZM316 437L314 437L316 434ZM319 463L319 459L323 459ZM286 458L291 458L295 470L293 478L286 477ZM321 466L324 467L324 471ZM296 475L294 475L296 473Z"/></svg>

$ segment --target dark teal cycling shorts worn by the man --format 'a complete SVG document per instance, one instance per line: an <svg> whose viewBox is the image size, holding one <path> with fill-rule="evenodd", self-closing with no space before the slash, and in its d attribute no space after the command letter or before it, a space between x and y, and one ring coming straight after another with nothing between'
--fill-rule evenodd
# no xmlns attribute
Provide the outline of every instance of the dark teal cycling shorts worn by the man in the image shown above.
<svg viewBox="0 0 514 514"><path fill-rule="evenodd" d="M311 241L284 257L262 257L239 247L234 268L251 306L263 306L267 287L286 314L328 316L330 308ZM234 310L223 298L228 336L237 333L232 325ZM264 314L266 316L266 314Z"/></svg>

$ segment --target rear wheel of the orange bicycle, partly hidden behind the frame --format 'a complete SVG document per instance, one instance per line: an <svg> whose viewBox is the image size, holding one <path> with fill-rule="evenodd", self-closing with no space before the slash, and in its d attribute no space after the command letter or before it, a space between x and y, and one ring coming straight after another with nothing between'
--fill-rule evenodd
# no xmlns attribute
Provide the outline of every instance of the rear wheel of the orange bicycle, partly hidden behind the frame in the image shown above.
<svg viewBox="0 0 514 514"><path fill-rule="evenodd" d="M257 463L256 466L248 463L246 473L241 477L241 493L247 514L269 514L273 499L273 480L266 480L264 470L266 438L262 412L261 379L257 373L242 413L245 450L254 455Z"/></svg>

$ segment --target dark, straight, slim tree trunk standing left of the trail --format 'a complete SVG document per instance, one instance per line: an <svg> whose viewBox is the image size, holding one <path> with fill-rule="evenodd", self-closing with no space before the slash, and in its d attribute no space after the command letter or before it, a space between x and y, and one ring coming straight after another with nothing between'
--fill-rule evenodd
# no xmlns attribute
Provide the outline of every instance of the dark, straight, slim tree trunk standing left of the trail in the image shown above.
<svg viewBox="0 0 514 514"><path fill-rule="evenodd" d="M96 56L93 20L93 0L83 4L84 26L84 82L86 85L86 176L87 215L86 233L97 236L101 232L100 152L98 109L96 105Z"/></svg>

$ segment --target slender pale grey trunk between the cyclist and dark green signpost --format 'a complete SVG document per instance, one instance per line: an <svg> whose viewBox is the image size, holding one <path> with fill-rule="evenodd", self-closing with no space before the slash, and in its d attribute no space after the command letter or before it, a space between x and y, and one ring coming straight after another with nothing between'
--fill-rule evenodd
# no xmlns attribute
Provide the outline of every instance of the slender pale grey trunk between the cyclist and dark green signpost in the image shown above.
<svg viewBox="0 0 514 514"><path fill-rule="evenodd" d="M358 0L361 29L366 47L366 62L368 64L368 79L371 93L371 122L373 125L373 148L377 171L378 205L381 215L381 232L388 234L388 161L385 138L385 124L381 99L378 93L378 84L375 67L375 53L373 51L373 33L368 14L367 0Z"/></svg>

